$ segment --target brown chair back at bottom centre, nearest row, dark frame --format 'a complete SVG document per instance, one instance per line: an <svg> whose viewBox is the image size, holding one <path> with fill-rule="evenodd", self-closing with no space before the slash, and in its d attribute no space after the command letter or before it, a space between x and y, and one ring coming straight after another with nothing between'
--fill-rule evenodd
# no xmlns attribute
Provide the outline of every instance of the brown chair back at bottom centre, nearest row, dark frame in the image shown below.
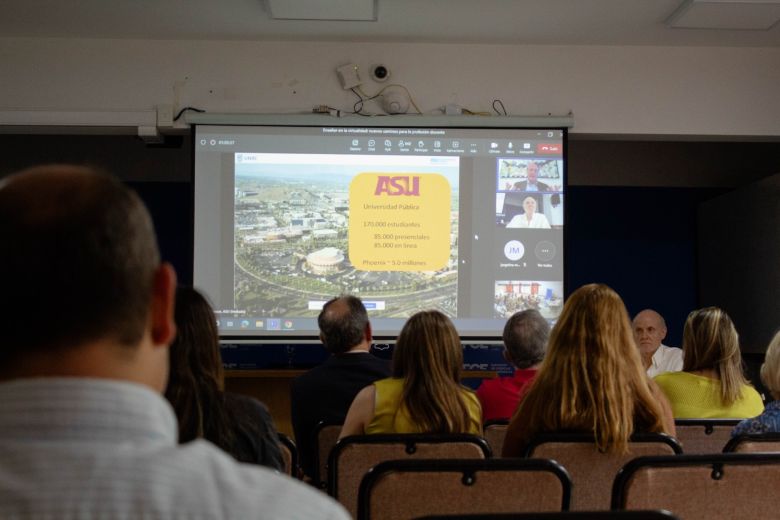
<svg viewBox="0 0 780 520"><path fill-rule="evenodd" d="M566 470L549 460L395 460L363 477L357 518L561 511L570 492Z"/></svg>

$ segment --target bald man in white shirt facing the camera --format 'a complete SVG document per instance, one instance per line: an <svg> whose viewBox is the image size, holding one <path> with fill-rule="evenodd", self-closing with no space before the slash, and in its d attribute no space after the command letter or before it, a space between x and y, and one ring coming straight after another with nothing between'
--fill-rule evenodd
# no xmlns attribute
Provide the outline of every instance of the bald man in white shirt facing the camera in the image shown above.
<svg viewBox="0 0 780 520"><path fill-rule="evenodd" d="M663 316L652 309L645 309L634 317L633 328L634 339L648 376L682 370L682 350L661 343L666 338Z"/></svg>

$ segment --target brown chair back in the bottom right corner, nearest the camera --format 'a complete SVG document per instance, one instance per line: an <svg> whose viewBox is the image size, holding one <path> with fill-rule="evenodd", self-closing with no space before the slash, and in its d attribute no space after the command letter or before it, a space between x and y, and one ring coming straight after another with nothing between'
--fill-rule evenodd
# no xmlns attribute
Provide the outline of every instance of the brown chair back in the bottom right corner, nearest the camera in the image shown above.
<svg viewBox="0 0 780 520"><path fill-rule="evenodd" d="M780 454L640 457L615 478L615 509L673 511L683 520L778 517Z"/></svg>

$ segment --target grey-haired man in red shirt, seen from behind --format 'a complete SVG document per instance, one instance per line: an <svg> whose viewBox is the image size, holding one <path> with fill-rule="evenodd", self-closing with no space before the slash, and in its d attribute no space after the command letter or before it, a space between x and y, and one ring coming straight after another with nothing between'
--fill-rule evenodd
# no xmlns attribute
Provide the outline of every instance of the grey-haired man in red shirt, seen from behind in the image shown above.
<svg viewBox="0 0 780 520"><path fill-rule="evenodd" d="M536 377L544 359L550 325L539 311L515 313L504 326L504 359L515 367L511 377L483 381L477 389L484 421L509 419Z"/></svg>

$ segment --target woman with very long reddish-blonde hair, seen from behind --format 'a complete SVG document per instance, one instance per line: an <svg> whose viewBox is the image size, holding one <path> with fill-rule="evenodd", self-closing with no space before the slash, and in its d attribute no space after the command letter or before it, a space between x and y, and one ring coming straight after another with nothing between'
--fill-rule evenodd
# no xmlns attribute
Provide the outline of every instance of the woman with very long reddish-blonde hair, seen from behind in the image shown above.
<svg viewBox="0 0 780 520"><path fill-rule="evenodd" d="M609 453L627 453L634 432L675 434L669 404L642 368L626 307L606 285L585 285L566 301L509 423L503 456L520 457L535 435L559 431L592 432Z"/></svg>

